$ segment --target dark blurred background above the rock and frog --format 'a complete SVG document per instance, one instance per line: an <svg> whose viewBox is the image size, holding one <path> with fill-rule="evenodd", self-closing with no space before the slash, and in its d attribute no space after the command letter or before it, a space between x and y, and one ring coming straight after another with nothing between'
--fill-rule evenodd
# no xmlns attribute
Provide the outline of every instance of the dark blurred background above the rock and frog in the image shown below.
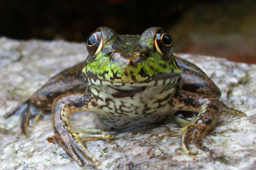
<svg viewBox="0 0 256 170"><path fill-rule="evenodd" d="M86 41L97 27L141 34L162 27L174 52L256 63L256 1L0 1L0 36Z"/></svg>

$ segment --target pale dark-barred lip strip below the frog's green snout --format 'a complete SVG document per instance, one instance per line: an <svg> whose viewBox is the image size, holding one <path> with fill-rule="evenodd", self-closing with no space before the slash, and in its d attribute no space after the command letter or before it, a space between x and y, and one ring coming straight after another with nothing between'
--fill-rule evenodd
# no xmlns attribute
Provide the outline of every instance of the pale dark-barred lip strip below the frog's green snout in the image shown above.
<svg viewBox="0 0 256 170"><path fill-rule="evenodd" d="M180 82L180 76L173 76L165 79L148 80L143 82L121 82L121 81L108 81L97 78L84 77L84 82L89 86L114 86L118 89L134 89L140 87L153 87L153 86L175 86Z"/></svg>

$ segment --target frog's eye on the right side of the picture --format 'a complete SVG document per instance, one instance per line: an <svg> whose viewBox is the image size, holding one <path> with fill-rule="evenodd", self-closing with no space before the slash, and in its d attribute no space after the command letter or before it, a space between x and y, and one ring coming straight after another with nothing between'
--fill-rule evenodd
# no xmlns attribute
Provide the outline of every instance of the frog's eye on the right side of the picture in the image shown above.
<svg viewBox="0 0 256 170"><path fill-rule="evenodd" d="M169 58L173 52L173 39L162 29L156 32L155 47L158 54L162 57Z"/></svg>

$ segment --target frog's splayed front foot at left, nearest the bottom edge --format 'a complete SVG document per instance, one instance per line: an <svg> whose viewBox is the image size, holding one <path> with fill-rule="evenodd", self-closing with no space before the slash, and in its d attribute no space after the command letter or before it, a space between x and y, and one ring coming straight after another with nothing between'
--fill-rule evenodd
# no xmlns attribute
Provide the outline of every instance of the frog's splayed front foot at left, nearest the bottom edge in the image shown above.
<svg viewBox="0 0 256 170"><path fill-rule="evenodd" d="M111 139L114 135L108 134L99 129L74 129L62 131L55 136L48 137L52 143L59 143L68 154L80 165L84 166L86 160L90 160L94 165L100 166L101 163L84 147L84 142L89 140Z"/></svg>

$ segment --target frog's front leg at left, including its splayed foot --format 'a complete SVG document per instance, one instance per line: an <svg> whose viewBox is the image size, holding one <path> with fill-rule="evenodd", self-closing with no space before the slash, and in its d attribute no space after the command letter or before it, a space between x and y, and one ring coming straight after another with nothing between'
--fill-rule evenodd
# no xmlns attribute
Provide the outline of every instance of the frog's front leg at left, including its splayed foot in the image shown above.
<svg viewBox="0 0 256 170"><path fill-rule="evenodd" d="M86 160L100 166L100 162L84 147L88 140L111 139L114 136L98 129L76 129L71 126L70 116L77 111L89 111L93 99L89 95L64 94L59 96L53 105L52 121L54 137L49 142L59 143L63 149L80 165L84 166Z"/></svg>

